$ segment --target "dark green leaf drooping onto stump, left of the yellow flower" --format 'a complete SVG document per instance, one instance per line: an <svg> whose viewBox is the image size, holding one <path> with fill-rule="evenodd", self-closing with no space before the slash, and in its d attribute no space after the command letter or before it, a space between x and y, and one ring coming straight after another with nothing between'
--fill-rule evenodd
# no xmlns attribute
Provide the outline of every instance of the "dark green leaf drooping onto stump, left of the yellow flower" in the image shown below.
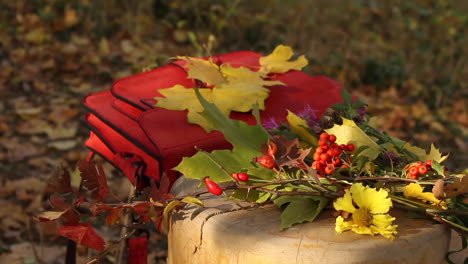
<svg viewBox="0 0 468 264"><path fill-rule="evenodd" d="M281 229L314 221L328 201L328 198L314 195L285 195L276 198L274 200L276 206L283 208Z"/></svg>

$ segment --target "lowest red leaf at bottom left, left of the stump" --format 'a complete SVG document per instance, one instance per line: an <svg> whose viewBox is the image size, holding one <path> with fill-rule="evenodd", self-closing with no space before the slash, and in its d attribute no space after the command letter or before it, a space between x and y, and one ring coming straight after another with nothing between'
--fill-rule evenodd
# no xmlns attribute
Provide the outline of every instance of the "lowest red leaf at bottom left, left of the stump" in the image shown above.
<svg viewBox="0 0 468 264"><path fill-rule="evenodd" d="M79 245L98 251L104 250L104 239L94 231L90 224L64 225L57 230L57 233Z"/></svg>

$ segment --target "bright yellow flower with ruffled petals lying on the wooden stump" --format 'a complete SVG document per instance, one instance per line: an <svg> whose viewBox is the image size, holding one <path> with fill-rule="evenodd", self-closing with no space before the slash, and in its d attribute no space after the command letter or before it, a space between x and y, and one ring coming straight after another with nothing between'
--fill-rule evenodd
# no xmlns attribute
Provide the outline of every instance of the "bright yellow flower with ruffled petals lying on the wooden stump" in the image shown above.
<svg viewBox="0 0 468 264"><path fill-rule="evenodd" d="M375 235L394 239L397 225L392 225L395 217L388 214L392 200L384 189L377 191L356 183L338 198L333 206L336 210L351 213L351 220L345 221L341 216L336 218L335 230L339 233L351 230L358 234Z"/></svg>

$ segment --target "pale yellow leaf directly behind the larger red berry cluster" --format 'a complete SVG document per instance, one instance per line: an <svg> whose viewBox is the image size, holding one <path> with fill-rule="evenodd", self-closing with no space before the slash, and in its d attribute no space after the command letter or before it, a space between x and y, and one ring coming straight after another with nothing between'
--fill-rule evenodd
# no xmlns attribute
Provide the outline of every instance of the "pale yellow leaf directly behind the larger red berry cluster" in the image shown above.
<svg viewBox="0 0 468 264"><path fill-rule="evenodd" d="M342 125L335 124L332 128L325 129L325 131L336 136L337 144L353 143L356 148L367 146L368 148L359 155L367 156L371 160L377 158L381 152L379 145L362 131L353 120L343 118Z"/></svg>

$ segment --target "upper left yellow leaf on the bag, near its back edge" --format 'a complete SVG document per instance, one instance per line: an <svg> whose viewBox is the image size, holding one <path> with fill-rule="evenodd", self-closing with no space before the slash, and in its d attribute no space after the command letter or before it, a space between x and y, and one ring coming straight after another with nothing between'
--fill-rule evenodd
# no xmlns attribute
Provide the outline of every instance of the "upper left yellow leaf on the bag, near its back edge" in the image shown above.
<svg viewBox="0 0 468 264"><path fill-rule="evenodd" d="M177 57L187 61L188 77L205 82L208 85L220 86L226 82L220 67L211 60L203 60L191 57Z"/></svg>

